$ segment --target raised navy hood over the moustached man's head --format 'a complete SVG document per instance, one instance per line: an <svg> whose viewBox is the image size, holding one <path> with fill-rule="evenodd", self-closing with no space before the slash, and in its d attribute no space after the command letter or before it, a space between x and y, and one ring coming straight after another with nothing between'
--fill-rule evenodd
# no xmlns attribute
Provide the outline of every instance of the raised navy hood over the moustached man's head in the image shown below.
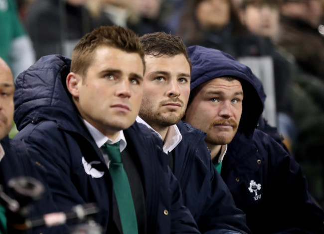
<svg viewBox="0 0 324 234"><path fill-rule="evenodd" d="M199 45L188 47L188 55L192 63L190 90L198 85L223 76L237 78L243 88L243 111L239 129L253 132L258 119L263 112L263 102L260 97L260 81L251 69L238 62L231 55L212 48ZM261 84L262 86L262 84Z"/></svg>

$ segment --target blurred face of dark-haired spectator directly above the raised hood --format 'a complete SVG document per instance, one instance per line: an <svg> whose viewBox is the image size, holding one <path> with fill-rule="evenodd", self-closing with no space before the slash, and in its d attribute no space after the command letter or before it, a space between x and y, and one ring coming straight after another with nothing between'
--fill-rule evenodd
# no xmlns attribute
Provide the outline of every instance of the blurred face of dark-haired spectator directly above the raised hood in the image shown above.
<svg viewBox="0 0 324 234"><path fill-rule="evenodd" d="M222 28L230 21L229 0L202 0L197 4L196 17L204 29Z"/></svg>

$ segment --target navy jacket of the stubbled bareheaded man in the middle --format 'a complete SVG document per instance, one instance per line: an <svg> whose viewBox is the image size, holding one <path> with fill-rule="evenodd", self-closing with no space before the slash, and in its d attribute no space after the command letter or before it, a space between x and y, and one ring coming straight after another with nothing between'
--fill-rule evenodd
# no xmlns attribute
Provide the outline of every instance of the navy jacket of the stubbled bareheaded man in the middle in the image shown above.
<svg viewBox="0 0 324 234"><path fill-rule="evenodd" d="M236 208L226 184L212 165L204 142L206 134L183 121L176 126L182 140L173 150L173 173L199 231L250 233L245 214Z"/></svg>

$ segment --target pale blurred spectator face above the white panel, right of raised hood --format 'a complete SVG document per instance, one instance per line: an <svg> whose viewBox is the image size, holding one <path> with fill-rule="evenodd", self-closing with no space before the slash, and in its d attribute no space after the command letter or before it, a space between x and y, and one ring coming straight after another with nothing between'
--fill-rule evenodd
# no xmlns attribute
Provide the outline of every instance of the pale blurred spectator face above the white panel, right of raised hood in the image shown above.
<svg viewBox="0 0 324 234"><path fill-rule="evenodd" d="M261 36L275 38L279 28L279 6L263 3L249 4L242 12L248 29Z"/></svg>

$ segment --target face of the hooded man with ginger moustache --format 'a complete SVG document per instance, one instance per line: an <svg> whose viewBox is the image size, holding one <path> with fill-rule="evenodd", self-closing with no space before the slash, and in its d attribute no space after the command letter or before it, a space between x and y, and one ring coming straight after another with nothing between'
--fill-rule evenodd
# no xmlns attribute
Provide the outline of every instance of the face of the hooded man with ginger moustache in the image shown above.
<svg viewBox="0 0 324 234"><path fill-rule="evenodd" d="M188 105L185 121L207 133L207 146L232 141L242 115L243 89L236 80L216 78L202 84Z"/></svg>

